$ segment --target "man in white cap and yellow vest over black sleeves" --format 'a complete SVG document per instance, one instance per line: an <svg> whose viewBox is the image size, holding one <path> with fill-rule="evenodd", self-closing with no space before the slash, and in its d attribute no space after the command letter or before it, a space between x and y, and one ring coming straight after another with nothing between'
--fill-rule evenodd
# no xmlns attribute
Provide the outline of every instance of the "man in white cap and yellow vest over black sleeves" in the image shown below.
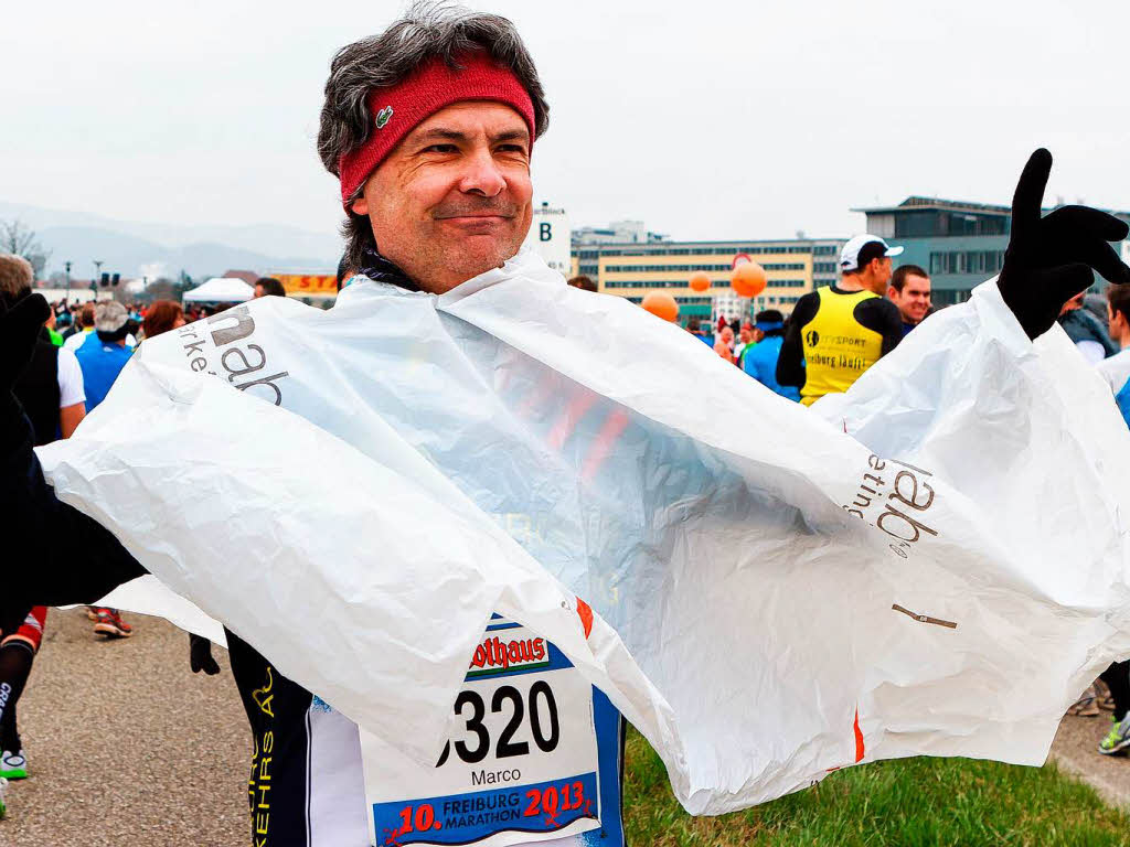
<svg viewBox="0 0 1130 847"><path fill-rule="evenodd" d="M883 296L890 282L890 257L902 252L877 235L857 235L840 253L838 285L797 302L776 378L799 387L805 405L847 391L902 341L898 307Z"/></svg>

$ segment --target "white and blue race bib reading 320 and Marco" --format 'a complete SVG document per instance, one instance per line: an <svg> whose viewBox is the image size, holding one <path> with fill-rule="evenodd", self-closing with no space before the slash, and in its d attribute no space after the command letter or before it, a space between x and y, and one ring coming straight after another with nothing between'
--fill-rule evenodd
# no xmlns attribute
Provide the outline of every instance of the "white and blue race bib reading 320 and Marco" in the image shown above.
<svg viewBox="0 0 1130 847"><path fill-rule="evenodd" d="M362 732L371 837L381 847L505 847L600 826L593 690L545 638L495 615L433 768Z"/></svg>

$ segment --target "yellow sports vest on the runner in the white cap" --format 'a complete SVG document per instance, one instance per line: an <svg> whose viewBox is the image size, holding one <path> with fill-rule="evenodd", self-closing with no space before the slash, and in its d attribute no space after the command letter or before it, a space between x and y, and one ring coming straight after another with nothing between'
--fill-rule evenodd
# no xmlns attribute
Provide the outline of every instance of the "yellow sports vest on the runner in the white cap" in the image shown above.
<svg viewBox="0 0 1130 847"><path fill-rule="evenodd" d="M878 297L872 291L836 294L829 286L816 289L820 305L805 324L805 387L800 402L811 405L825 394L851 387L883 355L883 335L860 324L855 306Z"/></svg>

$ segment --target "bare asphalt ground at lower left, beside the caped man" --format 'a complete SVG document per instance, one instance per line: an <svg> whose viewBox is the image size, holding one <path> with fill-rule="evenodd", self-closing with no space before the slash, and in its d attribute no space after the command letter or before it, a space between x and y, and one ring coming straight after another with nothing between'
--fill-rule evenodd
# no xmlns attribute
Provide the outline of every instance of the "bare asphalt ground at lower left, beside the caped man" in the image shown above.
<svg viewBox="0 0 1130 847"><path fill-rule="evenodd" d="M47 615L19 704L32 778L8 788L0 845L246 847L251 739L225 650L189 669L188 636L127 615L103 641L85 612Z"/></svg>

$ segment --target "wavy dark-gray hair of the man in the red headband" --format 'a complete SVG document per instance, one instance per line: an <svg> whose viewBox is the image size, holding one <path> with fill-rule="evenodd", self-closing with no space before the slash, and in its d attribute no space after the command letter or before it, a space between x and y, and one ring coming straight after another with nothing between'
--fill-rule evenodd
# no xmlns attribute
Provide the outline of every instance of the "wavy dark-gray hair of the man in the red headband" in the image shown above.
<svg viewBox="0 0 1130 847"><path fill-rule="evenodd" d="M434 59L458 70L457 58L475 51L487 53L513 71L533 102L534 137L539 138L549 125L549 104L514 24L499 15L445 2L417 2L380 35L347 44L333 56L318 131L318 155L325 169L340 176L341 157L368 140L373 128L367 104L371 90L394 86ZM360 197L363 187L349 198L350 202ZM341 226L346 239L342 263L358 271L365 248L375 250L376 243L368 218L351 209L346 210L346 216Z"/></svg>

